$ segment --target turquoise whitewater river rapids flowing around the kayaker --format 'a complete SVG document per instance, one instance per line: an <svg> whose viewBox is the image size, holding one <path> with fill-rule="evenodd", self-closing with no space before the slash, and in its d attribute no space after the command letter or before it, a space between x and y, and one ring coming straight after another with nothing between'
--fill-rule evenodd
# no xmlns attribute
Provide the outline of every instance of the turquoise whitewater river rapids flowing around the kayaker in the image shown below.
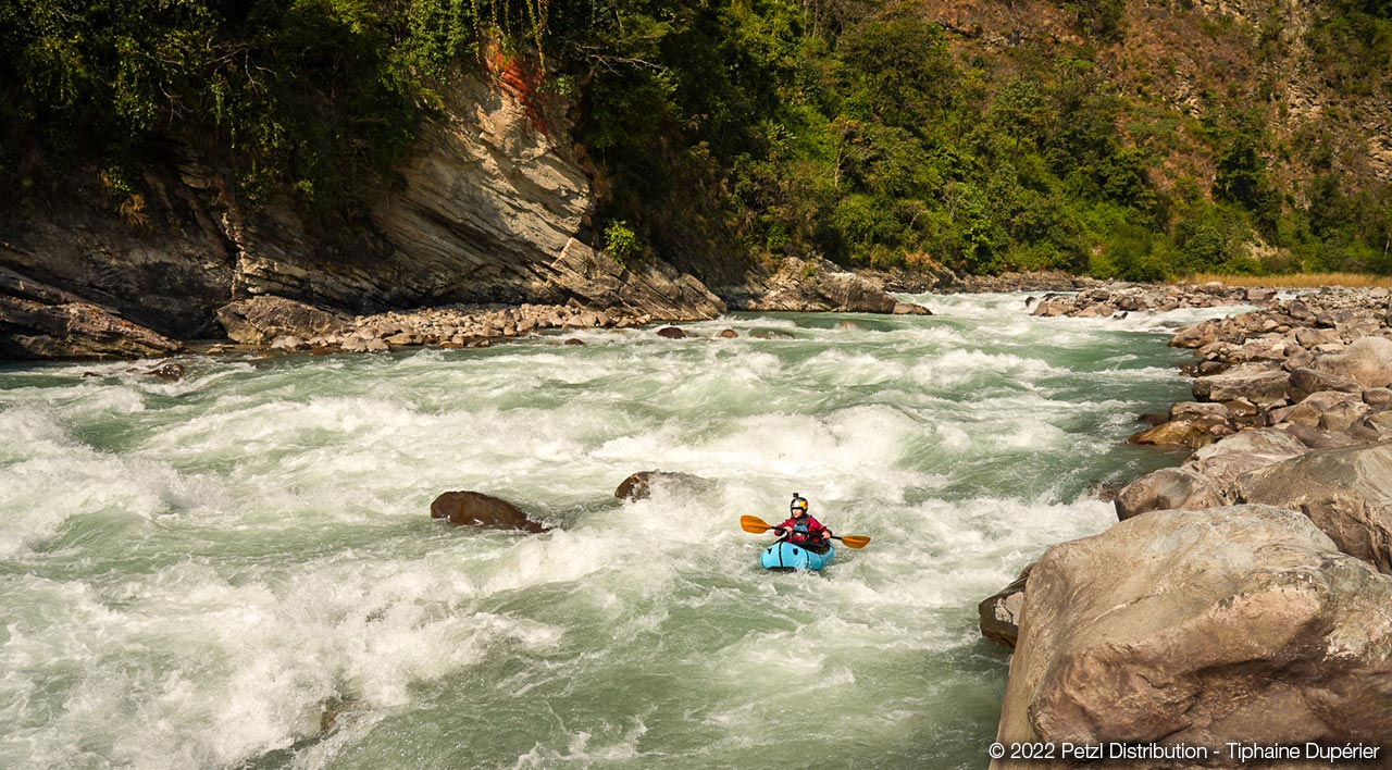
<svg viewBox="0 0 1392 770"><path fill-rule="evenodd" d="M1200 317L1023 297L6 366L0 766L984 767L1008 656L976 603L1115 521L1091 485L1175 462L1122 440ZM717 483L614 498L649 469ZM557 529L432 521L457 489ZM739 517L793 492L870 546L760 571Z"/></svg>

